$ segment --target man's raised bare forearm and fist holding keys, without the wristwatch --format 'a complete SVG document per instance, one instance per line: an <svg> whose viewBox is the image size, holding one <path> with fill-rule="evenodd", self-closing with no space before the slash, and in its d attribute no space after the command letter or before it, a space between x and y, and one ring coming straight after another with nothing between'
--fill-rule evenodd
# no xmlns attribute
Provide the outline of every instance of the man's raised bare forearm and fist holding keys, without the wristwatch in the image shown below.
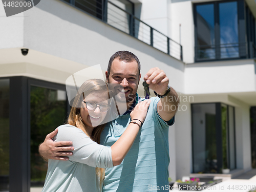
<svg viewBox="0 0 256 192"><path fill-rule="evenodd" d="M158 95L164 95L168 88L169 79L163 70L158 67L150 69L144 76L144 80L149 84L150 89L155 91ZM169 121L172 119L178 110L179 97L173 88L166 97L160 99L157 103L157 112L160 117Z"/></svg>

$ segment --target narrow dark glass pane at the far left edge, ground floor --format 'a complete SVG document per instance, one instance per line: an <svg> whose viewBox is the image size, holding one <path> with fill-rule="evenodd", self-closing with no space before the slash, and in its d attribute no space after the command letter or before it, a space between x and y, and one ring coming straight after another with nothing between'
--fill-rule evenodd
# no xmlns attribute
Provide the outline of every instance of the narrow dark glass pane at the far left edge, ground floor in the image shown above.
<svg viewBox="0 0 256 192"><path fill-rule="evenodd" d="M0 191L9 191L9 79L0 79Z"/></svg>

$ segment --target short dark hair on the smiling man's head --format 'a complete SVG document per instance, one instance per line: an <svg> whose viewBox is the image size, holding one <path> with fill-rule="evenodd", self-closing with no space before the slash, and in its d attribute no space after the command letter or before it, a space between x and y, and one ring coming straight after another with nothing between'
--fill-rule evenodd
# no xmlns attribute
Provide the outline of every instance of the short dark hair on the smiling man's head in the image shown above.
<svg viewBox="0 0 256 192"><path fill-rule="evenodd" d="M138 57L130 51L118 51L110 57L109 66L108 66L109 75L110 75L110 68L112 66L114 59L119 59L119 61L124 61L124 62L133 62L134 60L136 60L138 63L138 69L139 69L139 75L140 75L140 61Z"/></svg>

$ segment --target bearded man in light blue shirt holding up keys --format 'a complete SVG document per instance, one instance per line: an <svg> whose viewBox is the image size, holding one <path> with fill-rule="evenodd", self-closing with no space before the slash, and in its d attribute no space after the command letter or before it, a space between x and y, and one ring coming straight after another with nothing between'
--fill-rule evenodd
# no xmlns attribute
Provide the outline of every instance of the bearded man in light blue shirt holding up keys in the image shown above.
<svg viewBox="0 0 256 192"><path fill-rule="evenodd" d="M100 143L111 146L122 135L131 121L130 112L141 99L137 94L141 78L140 62L129 51L116 52L109 61L105 73L109 83L120 84L125 93L127 111L106 124ZM123 162L105 170L103 191L168 191L168 127L175 121L179 99L164 71L152 68L143 78L158 97L151 98L150 108L141 131ZM65 147L71 142L53 142L52 132L39 147L45 158L68 160L73 147Z"/></svg>

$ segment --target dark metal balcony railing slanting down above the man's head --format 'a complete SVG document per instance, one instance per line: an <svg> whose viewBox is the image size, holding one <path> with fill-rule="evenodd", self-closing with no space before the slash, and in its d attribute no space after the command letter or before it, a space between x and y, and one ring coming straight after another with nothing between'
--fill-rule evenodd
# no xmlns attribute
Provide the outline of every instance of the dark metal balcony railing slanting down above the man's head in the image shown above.
<svg viewBox="0 0 256 192"><path fill-rule="evenodd" d="M182 46L167 37L163 33L154 29L150 25L142 22L133 14L118 7L107 0L61 0L72 6L86 11L87 13L101 19L112 27L127 33L146 44L170 55L179 60L183 60Z"/></svg>

